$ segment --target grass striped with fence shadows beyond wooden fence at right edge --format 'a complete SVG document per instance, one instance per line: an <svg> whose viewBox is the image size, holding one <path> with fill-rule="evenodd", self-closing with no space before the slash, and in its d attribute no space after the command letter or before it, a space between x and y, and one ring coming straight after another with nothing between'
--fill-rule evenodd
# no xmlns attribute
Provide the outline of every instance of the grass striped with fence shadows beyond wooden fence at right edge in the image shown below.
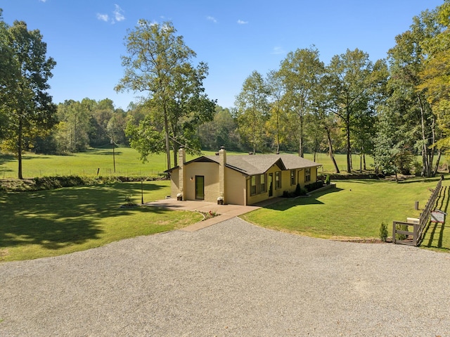
<svg viewBox="0 0 450 337"><path fill-rule="evenodd" d="M450 187L445 186L444 191L439 194L436 201L436 208L448 213L450 202ZM439 222L429 222L423 233L423 242L421 246L427 248L438 248L444 250L450 250L450 246L444 246L444 230L445 222L443 224Z"/></svg>

